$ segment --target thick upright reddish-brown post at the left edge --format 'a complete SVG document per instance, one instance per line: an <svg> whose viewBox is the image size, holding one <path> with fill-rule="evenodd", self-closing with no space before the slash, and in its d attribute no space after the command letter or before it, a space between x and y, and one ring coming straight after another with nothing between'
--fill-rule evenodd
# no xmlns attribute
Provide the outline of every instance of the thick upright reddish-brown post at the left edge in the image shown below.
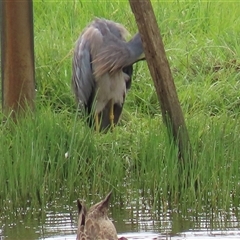
<svg viewBox="0 0 240 240"><path fill-rule="evenodd" d="M2 106L6 115L34 108L32 0L1 1Z"/></svg>

